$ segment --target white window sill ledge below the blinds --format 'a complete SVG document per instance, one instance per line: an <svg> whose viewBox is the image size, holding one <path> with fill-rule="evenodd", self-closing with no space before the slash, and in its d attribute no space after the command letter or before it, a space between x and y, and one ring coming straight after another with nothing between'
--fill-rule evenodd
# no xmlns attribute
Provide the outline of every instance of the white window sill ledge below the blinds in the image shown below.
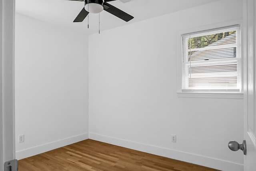
<svg viewBox="0 0 256 171"><path fill-rule="evenodd" d="M244 99L244 93L178 92L177 94L178 94L178 97L189 97L189 98Z"/></svg>

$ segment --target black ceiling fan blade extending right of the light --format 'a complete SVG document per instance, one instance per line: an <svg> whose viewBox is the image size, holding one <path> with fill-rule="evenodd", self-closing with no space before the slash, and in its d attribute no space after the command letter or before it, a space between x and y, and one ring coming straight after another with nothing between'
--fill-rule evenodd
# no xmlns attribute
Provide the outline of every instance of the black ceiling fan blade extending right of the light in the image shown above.
<svg viewBox="0 0 256 171"><path fill-rule="evenodd" d="M119 10L118 8L104 2L103 8L105 11L109 12L110 14L113 14L114 16L117 16L118 18L121 18L122 20L128 22L134 18L133 16L127 14L126 12L123 12L122 10Z"/></svg>

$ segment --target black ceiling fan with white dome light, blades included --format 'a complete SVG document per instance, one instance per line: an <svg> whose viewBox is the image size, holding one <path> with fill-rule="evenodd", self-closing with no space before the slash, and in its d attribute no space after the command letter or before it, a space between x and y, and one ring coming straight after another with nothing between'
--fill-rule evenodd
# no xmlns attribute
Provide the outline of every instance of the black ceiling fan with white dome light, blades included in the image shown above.
<svg viewBox="0 0 256 171"><path fill-rule="evenodd" d="M114 16L117 16L118 18L126 22L134 18L133 16L127 14L126 12L123 12L122 10L107 3L114 0L75 0L75 1L84 1L84 8L81 10L81 12L78 14L78 16L75 18L73 22L82 22L89 13L97 14L102 12L103 10L109 12L110 14L113 14Z"/></svg>

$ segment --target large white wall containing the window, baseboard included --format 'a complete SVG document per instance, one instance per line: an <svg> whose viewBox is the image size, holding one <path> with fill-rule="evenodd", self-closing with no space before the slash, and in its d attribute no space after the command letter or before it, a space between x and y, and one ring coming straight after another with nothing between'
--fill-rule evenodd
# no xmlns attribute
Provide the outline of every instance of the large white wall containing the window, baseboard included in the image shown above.
<svg viewBox="0 0 256 171"><path fill-rule="evenodd" d="M242 142L243 99L179 97L176 81L177 34L231 20L242 20L242 0L220 0L90 35L89 138L241 171L242 151L230 151L228 142ZM177 143L171 143L171 134Z"/></svg>

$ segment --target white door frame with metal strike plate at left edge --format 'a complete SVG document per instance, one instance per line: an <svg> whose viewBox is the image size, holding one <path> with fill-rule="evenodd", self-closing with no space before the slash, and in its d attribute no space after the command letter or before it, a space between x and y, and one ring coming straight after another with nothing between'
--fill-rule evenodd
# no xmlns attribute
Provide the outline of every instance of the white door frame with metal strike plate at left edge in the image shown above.
<svg viewBox="0 0 256 171"><path fill-rule="evenodd" d="M0 0L0 171L16 165L12 161L15 158L13 64L14 0Z"/></svg>

